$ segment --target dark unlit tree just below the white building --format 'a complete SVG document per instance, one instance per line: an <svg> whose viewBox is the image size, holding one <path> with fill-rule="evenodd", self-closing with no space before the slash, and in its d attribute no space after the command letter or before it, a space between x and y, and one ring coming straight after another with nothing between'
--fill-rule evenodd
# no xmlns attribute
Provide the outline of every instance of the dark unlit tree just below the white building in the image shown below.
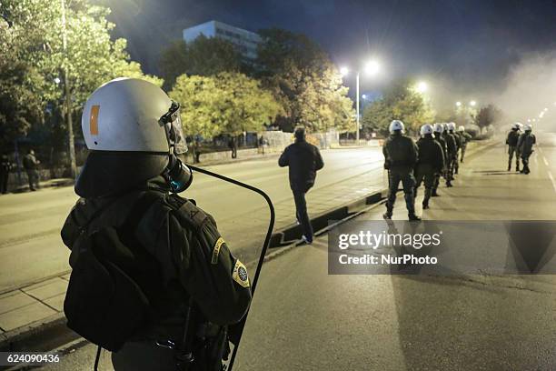
<svg viewBox="0 0 556 371"><path fill-rule="evenodd" d="M236 47L219 37L200 35L187 44L178 40L168 45L160 57L164 89L170 90L179 75L212 76L221 72L238 72L242 67Z"/></svg>

